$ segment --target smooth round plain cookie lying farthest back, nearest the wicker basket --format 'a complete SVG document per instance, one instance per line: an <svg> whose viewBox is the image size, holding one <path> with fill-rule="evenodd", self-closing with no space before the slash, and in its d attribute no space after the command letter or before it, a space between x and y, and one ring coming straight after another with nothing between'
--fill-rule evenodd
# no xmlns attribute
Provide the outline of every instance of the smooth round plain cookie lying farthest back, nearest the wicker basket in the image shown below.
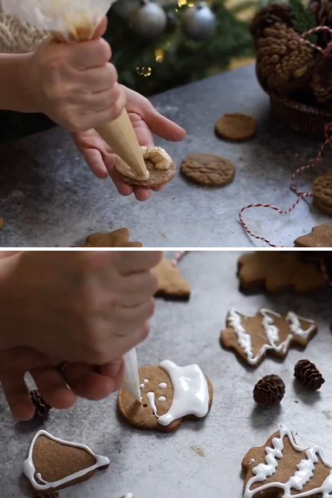
<svg viewBox="0 0 332 498"><path fill-rule="evenodd" d="M216 132L226 140L242 141L251 138L257 131L257 123L246 114L224 114L216 121Z"/></svg>

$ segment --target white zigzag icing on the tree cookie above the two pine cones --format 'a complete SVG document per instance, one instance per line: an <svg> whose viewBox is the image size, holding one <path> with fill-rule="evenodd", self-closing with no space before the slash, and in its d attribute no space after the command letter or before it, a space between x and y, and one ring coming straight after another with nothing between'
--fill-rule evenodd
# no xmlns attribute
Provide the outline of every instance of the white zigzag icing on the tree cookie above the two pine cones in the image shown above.
<svg viewBox="0 0 332 498"><path fill-rule="evenodd" d="M273 316L281 318L281 315L268 309L261 309L259 312L262 315L262 325L264 327L268 343L263 344L256 356L253 356L251 336L242 326L242 317L239 312L232 308L227 315L227 326L234 329L237 336L237 342L247 355L247 361L250 365L255 365L267 350L274 350L277 353L285 353L294 335L306 338L315 329L315 323L313 320L303 318L296 315L292 311L289 311L286 315L286 320L289 324L290 334L287 336L285 341L277 344L279 341L279 329L274 325ZM309 325L307 329L302 329L300 320L308 322Z"/></svg>

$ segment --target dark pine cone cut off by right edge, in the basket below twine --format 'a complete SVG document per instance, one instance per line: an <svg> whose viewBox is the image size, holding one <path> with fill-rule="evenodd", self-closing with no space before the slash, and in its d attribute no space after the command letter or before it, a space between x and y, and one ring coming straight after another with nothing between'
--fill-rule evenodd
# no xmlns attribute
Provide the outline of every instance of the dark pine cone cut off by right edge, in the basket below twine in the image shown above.
<svg viewBox="0 0 332 498"><path fill-rule="evenodd" d="M316 64L311 88L318 102L332 109L332 46L330 45Z"/></svg>

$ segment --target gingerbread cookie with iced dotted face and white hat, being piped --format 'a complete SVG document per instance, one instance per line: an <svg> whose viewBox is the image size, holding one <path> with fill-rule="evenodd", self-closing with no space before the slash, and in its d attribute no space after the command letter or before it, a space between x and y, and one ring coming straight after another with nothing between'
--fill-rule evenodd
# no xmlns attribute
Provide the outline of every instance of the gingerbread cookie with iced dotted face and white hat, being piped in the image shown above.
<svg viewBox="0 0 332 498"><path fill-rule="evenodd" d="M205 417L212 405L210 379L198 365L178 367L170 360L139 368L142 403L125 389L118 395L121 416L139 429L175 431L183 418Z"/></svg>

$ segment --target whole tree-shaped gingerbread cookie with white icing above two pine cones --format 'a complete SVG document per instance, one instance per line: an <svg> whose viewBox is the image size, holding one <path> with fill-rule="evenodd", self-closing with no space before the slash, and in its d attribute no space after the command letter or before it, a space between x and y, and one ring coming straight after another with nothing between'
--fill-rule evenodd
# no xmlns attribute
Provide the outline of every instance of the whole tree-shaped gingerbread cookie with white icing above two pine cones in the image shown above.
<svg viewBox="0 0 332 498"><path fill-rule="evenodd" d="M224 348L234 350L245 363L257 367L267 353L283 359L292 344L305 348L316 332L315 322L292 311L282 317L261 309L247 317L233 308L227 314L220 340Z"/></svg>

